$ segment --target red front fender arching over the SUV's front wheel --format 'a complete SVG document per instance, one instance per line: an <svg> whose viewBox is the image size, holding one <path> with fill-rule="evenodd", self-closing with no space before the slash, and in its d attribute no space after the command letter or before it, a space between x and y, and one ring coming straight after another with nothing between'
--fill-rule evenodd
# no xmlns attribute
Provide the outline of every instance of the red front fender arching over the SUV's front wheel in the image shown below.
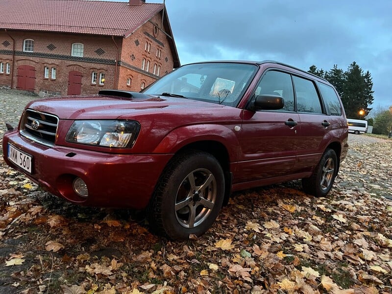
<svg viewBox="0 0 392 294"><path fill-rule="evenodd" d="M176 153L182 147L200 141L216 141L226 147L230 162L237 161L241 132L234 125L196 124L181 126L168 133L153 153Z"/></svg>

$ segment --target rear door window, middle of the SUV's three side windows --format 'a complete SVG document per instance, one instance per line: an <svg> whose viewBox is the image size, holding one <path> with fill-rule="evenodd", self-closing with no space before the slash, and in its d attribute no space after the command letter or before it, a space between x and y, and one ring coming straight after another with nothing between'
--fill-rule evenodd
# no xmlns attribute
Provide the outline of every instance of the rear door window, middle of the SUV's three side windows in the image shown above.
<svg viewBox="0 0 392 294"><path fill-rule="evenodd" d="M297 111L322 113L319 95L312 81L293 76Z"/></svg>

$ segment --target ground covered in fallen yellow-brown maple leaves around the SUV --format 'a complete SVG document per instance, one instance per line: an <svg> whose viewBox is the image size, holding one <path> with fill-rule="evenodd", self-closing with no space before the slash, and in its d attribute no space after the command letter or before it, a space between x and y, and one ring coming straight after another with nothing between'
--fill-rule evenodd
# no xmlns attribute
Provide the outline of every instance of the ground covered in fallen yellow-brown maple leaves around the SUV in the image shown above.
<svg viewBox="0 0 392 294"><path fill-rule="evenodd" d="M237 193L186 242L51 196L1 159L0 293L392 293L392 140L349 142L328 198L299 181Z"/></svg>

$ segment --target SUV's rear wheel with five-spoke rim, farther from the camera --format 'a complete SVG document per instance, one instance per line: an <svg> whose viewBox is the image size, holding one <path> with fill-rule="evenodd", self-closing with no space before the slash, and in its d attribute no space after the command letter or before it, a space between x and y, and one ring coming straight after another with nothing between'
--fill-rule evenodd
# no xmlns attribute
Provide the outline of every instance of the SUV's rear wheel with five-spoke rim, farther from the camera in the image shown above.
<svg viewBox="0 0 392 294"><path fill-rule="evenodd" d="M325 197L332 188L338 170L338 160L333 149L326 149L322 154L312 176L302 179L303 190L316 197Z"/></svg>

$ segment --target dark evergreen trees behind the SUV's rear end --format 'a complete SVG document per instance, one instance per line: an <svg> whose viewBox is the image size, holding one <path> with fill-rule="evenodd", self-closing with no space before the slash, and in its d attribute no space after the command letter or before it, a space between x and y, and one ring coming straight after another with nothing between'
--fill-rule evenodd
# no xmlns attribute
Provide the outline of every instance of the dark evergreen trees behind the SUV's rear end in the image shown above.
<svg viewBox="0 0 392 294"><path fill-rule="evenodd" d="M315 65L309 67L309 73L316 74L329 81L342 98L347 118L365 119L373 103L373 82L369 71L366 73L353 61L346 71L334 65L329 71L318 69ZM362 110L362 111L361 111Z"/></svg>

